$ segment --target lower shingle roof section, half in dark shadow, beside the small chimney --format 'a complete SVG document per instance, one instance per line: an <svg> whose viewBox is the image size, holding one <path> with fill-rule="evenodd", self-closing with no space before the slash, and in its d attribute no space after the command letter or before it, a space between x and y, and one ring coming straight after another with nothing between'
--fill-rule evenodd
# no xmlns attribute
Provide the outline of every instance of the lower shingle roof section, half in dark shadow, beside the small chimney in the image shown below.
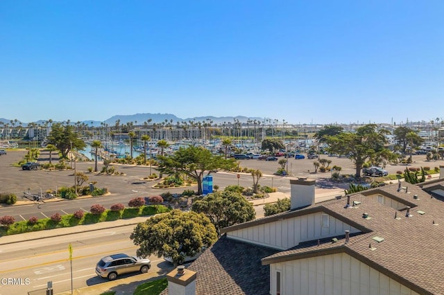
<svg viewBox="0 0 444 295"><path fill-rule="evenodd" d="M277 251L219 238L188 267L197 273L196 294L269 294L270 268L261 265L261 258ZM161 294L168 294L168 289Z"/></svg>

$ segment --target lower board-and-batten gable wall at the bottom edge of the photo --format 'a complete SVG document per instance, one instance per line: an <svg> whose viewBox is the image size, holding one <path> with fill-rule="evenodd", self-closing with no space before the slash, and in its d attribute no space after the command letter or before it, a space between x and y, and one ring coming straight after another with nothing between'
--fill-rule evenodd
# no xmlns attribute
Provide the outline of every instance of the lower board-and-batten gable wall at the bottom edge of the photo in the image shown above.
<svg viewBox="0 0 444 295"><path fill-rule="evenodd" d="M419 295L347 253L270 265L270 294L280 295Z"/></svg>

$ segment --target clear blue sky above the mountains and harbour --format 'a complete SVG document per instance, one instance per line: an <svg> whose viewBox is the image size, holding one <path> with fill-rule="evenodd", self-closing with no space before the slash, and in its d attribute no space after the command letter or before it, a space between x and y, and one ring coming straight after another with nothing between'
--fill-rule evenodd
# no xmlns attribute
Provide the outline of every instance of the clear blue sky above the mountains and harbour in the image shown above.
<svg viewBox="0 0 444 295"><path fill-rule="evenodd" d="M0 118L444 117L444 1L0 1Z"/></svg>

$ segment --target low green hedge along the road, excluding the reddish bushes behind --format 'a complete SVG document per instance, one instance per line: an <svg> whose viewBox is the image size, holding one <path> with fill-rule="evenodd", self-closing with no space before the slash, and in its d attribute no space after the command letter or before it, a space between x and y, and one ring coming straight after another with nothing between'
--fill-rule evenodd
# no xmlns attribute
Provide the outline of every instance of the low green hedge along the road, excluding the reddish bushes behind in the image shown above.
<svg viewBox="0 0 444 295"><path fill-rule="evenodd" d="M9 227L0 226L0 237L3 235L15 235L17 233L28 233L31 231L43 231L45 229L57 229L62 227L70 227L81 224L94 224L97 222L105 222L119 220L123 218L149 216L157 213L165 213L170 211L163 205L148 205L140 208L125 208L123 211L115 212L106 210L102 214L85 213L81 219L74 217L74 214L63 215L60 222L55 222L51 218L37 220L35 224L30 224L28 220L15 222Z"/></svg>

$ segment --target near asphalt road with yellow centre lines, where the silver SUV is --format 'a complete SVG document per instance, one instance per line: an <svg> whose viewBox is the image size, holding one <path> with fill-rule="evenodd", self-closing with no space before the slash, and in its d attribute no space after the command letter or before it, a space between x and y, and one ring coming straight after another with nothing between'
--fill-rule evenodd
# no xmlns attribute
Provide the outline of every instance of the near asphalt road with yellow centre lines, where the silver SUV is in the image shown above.
<svg viewBox="0 0 444 295"><path fill-rule="evenodd" d="M78 289L105 283L94 271L96 262L102 257L114 253L135 255L137 247L129 236L134 226L121 226L73 235L62 235L43 240L31 240L6 244L0 250L0 277L15 278L20 284L0 284L0 295L28 294L45 289L47 282L53 283L53 289L64 292L71 289L71 262L68 244L71 243L73 287ZM173 265L157 258L149 257L151 269L148 274L127 274L134 280L146 280L153 276L166 274Z"/></svg>

